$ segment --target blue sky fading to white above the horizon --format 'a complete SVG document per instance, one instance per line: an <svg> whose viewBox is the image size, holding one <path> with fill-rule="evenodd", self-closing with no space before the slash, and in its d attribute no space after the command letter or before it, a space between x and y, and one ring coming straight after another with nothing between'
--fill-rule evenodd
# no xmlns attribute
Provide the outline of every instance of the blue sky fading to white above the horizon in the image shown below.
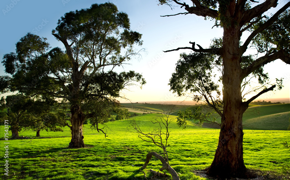
<svg viewBox="0 0 290 180"><path fill-rule="evenodd" d="M89 8L93 3L104 3L106 1L91 0L1 0L0 2L0 56L15 51L15 43L28 32L46 37L51 47L63 47L51 31L55 29L58 19L66 12ZM222 36L222 29L211 27L213 21L204 21L203 17L195 15L178 15L171 17L160 17L162 15L177 14L184 12L183 9L171 10L167 5L157 5L157 1L142 0L112 0L119 11L126 12L130 18L131 29L140 32L143 45L139 49L146 48L147 53L142 54L141 59L130 61L123 70L135 70L142 73L147 83L142 90L131 87L131 91L124 91L128 99L135 101L182 101L185 98L175 97L169 91L168 86L171 74L174 72L175 64L179 54L190 51L174 51L164 53L168 49L189 46L189 41L196 42L207 48L211 39ZM282 1L282 4L286 1ZM279 8L280 6L278 6ZM284 78L284 88L281 91L264 94L264 98L286 98L289 97L290 65L280 60L269 63L265 71L269 72L271 79ZM4 68L0 66L0 75L4 75ZM190 100L190 99L189 99Z"/></svg>

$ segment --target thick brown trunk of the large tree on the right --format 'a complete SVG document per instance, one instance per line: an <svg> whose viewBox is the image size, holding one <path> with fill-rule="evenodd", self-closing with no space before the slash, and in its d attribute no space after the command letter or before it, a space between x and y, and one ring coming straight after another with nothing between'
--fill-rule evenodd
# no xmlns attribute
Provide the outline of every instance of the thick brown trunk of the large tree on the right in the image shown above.
<svg viewBox="0 0 290 180"><path fill-rule="evenodd" d="M243 159L242 116L247 105L242 103L239 28L224 27L223 37L223 114L218 148L207 173L220 178L252 178Z"/></svg>

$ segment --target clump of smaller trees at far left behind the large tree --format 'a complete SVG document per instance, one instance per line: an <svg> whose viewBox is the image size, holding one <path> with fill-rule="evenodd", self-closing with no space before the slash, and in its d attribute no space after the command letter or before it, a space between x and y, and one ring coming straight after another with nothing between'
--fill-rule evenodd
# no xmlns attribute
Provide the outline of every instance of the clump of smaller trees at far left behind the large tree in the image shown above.
<svg viewBox="0 0 290 180"><path fill-rule="evenodd" d="M19 131L35 130L40 136L40 130L63 131L66 125L65 114L56 108L56 101L51 99L32 99L24 94L2 97L0 101L1 122L8 120L12 139L19 138Z"/></svg>

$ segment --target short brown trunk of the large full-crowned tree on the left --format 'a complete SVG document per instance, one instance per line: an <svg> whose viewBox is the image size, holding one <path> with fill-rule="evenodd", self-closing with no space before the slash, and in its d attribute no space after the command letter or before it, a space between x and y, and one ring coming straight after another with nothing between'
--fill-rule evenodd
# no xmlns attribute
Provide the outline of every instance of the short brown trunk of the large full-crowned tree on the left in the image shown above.
<svg viewBox="0 0 290 180"><path fill-rule="evenodd" d="M79 105L72 105L70 108L70 112L72 113L70 122L71 132L72 132L72 139L69 143L69 148L81 148L85 147L84 144L84 136L82 125L84 123L84 114L81 112Z"/></svg>

